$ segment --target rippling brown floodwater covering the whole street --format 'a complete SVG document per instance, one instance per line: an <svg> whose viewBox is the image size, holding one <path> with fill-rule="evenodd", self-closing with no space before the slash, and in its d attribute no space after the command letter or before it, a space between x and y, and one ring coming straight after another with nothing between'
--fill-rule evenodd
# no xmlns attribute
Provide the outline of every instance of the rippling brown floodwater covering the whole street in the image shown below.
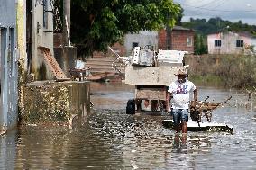
<svg viewBox="0 0 256 170"><path fill-rule="evenodd" d="M169 114L125 114L133 86L92 83L94 109L82 124L26 126L0 137L0 169L256 169L255 103L233 90L198 89L199 100L232 96L213 121L232 125L233 134L188 132L182 138L162 126Z"/></svg>

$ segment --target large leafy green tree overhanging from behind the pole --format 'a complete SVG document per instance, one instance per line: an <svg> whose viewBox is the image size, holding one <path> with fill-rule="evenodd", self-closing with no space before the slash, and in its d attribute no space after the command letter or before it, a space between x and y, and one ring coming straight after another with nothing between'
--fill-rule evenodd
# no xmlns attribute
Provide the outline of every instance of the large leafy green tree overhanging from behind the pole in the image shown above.
<svg viewBox="0 0 256 170"><path fill-rule="evenodd" d="M71 41L78 55L90 56L123 40L128 32L173 26L180 12L172 0L71 1Z"/></svg>

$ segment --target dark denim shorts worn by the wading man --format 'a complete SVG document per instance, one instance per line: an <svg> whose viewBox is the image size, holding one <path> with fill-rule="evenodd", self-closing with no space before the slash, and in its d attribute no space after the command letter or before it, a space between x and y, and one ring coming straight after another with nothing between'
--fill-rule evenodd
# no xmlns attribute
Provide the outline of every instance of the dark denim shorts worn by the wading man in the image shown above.
<svg viewBox="0 0 256 170"><path fill-rule="evenodd" d="M173 109L172 116L174 125L178 125L182 121L188 121L188 109Z"/></svg>

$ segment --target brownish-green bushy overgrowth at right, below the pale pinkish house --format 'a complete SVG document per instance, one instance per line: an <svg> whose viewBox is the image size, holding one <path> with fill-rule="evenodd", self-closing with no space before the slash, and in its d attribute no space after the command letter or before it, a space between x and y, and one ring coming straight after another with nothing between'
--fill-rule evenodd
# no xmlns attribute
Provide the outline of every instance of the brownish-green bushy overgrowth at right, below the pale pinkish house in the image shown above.
<svg viewBox="0 0 256 170"><path fill-rule="evenodd" d="M190 79L206 85L244 88L256 85L255 56L187 56Z"/></svg>

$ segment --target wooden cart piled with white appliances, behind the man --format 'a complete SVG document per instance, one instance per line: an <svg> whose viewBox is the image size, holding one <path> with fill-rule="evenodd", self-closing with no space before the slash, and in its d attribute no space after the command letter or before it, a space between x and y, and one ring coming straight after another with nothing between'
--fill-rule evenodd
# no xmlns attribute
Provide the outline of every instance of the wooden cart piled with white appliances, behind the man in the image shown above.
<svg viewBox="0 0 256 170"><path fill-rule="evenodd" d="M125 66L125 84L135 86L134 98L126 105L126 113L166 112L167 90L176 80L184 64L186 51L152 50L135 47L130 62Z"/></svg>

